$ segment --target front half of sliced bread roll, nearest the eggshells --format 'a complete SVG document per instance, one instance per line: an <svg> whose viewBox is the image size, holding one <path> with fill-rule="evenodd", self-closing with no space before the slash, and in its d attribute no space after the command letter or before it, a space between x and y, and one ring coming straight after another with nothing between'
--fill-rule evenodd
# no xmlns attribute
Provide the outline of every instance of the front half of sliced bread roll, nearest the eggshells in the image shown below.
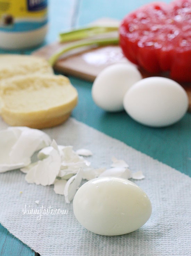
<svg viewBox="0 0 191 256"><path fill-rule="evenodd" d="M63 123L78 94L62 75L25 75L0 83L1 117L11 126L42 129Z"/></svg>

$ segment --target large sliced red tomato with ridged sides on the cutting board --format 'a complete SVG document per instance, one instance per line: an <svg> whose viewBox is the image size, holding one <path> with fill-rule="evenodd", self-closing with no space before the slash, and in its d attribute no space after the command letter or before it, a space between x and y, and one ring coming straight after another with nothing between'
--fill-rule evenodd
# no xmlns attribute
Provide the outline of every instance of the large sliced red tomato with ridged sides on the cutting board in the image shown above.
<svg viewBox="0 0 191 256"><path fill-rule="evenodd" d="M150 3L128 14L119 28L124 55L154 74L191 82L191 0Z"/></svg>

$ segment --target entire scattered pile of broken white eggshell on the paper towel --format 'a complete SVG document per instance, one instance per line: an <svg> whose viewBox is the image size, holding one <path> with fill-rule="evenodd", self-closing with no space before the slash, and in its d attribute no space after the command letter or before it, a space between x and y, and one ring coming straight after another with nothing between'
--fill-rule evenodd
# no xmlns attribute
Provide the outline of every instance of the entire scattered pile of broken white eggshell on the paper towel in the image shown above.
<svg viewBox="0 0 191 256"><path fill-rule="evenodd" d="M0 172L20 168L26 173L28 183L53 184L55 193L64 195L67 203L73 199L82 179L91 180L100 175L133 178L123 160L113 157L113 168L94 169L83 158L92 156L90 150L81 148L75 152L72 146L57 145L44 132L28 127L9 127L0 131L0 150ZM32 155L38 150L39 160L31 163Z"/></svg>

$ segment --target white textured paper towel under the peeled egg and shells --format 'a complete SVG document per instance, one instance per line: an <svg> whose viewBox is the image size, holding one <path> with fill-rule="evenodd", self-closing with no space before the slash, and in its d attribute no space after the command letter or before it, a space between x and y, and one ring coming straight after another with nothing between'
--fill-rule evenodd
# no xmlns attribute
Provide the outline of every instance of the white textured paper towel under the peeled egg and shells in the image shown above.
<svg viewBox="0 0 191 256"><path fill-rule="evenodd" d="M190 177L73 118L44 131L60 145L90 149L88 160L95 168L109 167L115 156L132 171L142 170L146 178L135 183L148 194L152 215L132 233L96 235L77 222L72 203L65 203L53 186L28 184L25 174L14 170L0 174L0 223L10 233L41 256L191 256ZM30 215L27 209L46 214Z"/></svg>

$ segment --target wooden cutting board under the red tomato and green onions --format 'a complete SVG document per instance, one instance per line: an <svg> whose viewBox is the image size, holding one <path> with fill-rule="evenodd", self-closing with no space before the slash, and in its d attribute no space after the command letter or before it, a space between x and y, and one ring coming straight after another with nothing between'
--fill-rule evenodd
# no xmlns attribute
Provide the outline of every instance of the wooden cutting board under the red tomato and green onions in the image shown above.
<svg viewBox="0 0 191 256"><path fill-rule="evenodd" d="M49 57L62 48L66 44L60 44L55 42L53 44L44 46L37 51L33 52L33 55L49 59ZM114 63L129 62L122 54L119 46L104 46L99 48L83 48L80 51L73 51L69 54L61 56L61 58L54 65L55 71L62 73L63 75L72 75L81 79L93 82L98 73L106 68L108 65ZM151 76L146 71L140 69L143 77ZM165 76L157 74L155 76ZM191 112L191 83L181 84L186 90L189 97L189 111Z"/></svg>

